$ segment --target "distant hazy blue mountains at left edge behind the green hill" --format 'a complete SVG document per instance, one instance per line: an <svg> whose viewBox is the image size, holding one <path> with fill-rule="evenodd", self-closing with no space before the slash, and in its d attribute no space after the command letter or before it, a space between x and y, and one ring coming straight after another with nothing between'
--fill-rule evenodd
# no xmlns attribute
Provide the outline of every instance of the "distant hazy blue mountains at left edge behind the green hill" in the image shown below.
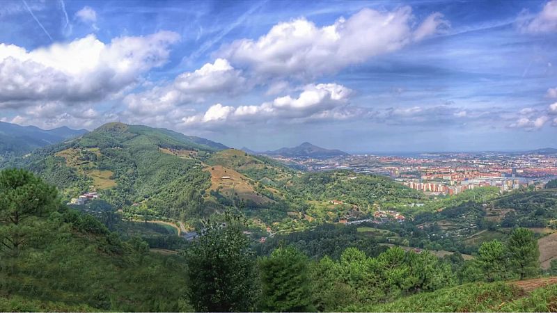
<svg viewBox="0 0 557 313"><path fill-rule="evenodd" d="M0 122L0 161L31 152L38 147L65 141L85 134L86 129L40 129L34 126L19 126L8 122Z"/></svg>

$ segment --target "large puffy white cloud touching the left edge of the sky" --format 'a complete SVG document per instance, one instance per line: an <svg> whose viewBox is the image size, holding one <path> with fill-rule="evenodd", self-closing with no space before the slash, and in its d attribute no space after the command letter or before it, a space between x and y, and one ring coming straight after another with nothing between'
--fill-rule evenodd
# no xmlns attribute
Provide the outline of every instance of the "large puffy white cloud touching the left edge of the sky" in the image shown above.
<svg viewBox="0 0 557 313"><path fill-rule="evenodd" d="M108 44L88 35L32 51L0 44L0 108L105 99L166 63L168 47L178 39L177 33L161 31Z"/></svg>

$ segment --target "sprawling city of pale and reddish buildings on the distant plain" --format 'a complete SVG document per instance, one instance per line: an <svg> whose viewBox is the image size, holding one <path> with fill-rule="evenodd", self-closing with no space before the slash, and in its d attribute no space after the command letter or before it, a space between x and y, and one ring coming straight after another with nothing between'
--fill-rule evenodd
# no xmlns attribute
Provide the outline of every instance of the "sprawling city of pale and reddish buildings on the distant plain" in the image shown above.
<svg viewBox="0 0 557 313"><path fill-rule="evenodd" d="M358 154L331 159L275 157L308 170L347 169L386 175L426 194L456 195L483 186L510 191L557 177L557 157L535 153L439 153L412 156Z"/></svg>

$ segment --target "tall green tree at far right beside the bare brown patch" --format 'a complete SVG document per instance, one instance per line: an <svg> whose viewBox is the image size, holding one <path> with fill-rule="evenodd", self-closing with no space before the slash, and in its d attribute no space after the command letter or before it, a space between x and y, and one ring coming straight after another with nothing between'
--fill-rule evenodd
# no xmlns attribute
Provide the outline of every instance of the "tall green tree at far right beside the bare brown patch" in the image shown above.
<svg viewBox="0 0 557 313"><path fill-rule="evenodd" d="M526 228L516 228L507 242L511 271L517 273L521 280L540 273L540 250L534 233Z"/></svg>

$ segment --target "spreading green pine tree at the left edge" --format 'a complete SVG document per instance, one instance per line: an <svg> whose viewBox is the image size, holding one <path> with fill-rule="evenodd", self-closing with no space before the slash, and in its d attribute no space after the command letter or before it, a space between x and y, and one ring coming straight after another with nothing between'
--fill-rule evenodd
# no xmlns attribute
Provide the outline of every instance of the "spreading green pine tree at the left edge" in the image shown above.
<svg viewBox="0 0 557 313"><path fill-rule="evenodd" d="M26 170L0 172L0 255L17 257L36 233L33 222L58 207L58 193Z"/></svg>

